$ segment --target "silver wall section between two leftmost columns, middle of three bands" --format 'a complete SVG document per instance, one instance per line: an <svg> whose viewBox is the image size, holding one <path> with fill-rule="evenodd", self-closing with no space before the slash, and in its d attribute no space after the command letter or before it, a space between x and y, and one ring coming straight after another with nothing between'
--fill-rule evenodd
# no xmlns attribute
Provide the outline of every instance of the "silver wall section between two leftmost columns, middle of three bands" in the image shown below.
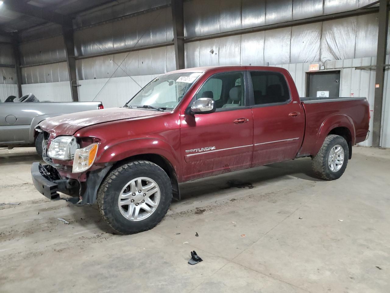
<svg viewBox="0 0 390 293"><path fill-rule="evenodd" d="M66 59L64 38L62 36L21 43L19 50L22 65Z"/></svg>

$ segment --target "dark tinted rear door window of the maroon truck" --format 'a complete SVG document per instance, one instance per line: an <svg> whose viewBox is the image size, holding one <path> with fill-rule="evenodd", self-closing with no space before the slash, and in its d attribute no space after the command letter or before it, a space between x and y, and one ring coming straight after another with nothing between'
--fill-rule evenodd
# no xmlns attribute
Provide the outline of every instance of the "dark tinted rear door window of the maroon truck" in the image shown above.
<svg viewBox="0 0 390 293"><path fill-rule="evenodd" d="M287 82L281 73L252 71L250 76L255 105L283 103L290 99Z"/></svg>

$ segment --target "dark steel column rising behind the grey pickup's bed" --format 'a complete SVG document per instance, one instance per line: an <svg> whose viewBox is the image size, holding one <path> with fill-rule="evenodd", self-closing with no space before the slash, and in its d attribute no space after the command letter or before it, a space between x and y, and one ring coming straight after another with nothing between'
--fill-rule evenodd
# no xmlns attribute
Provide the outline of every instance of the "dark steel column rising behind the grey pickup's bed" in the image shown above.
<svg viewBox="0 0 390 293"><path fill-rule="evenodd" d="M66 63L69 72L69 84L72 92L73 102L78 102L77 92L77 76L76 76L76 59L74 56L74 40L73 29L68 27L62 27L62 34L64 36Z"/></svg>

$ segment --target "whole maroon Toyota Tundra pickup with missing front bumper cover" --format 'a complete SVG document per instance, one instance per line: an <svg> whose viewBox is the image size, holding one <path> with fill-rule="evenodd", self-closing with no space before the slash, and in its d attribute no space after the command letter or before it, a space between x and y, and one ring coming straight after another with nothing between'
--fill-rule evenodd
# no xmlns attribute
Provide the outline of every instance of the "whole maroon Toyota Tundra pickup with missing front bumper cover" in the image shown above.
<svg viewBox="0 0 390 293"><path fill-rule="evenodd" d="M35 188L74 203L97 201L124 234L153 228L179 183L300 157L324 180L344 173L369 133L365 98L299 98L276 67L188 68L152 80L123 107L41 122Z"/></svg>

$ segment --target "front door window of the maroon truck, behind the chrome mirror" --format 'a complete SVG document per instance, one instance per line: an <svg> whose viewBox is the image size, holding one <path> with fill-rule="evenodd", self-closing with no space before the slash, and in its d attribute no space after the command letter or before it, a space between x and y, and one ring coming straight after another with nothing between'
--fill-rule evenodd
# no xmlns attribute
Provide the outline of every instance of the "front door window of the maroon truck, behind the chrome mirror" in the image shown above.
<svg viewBox="0 0 390 293"><path fill-rule="evenodd" d="M214 99L216 109L242 107L245 105L243 84L242 72L218 73L206 80L196 98Z"/></svg>

